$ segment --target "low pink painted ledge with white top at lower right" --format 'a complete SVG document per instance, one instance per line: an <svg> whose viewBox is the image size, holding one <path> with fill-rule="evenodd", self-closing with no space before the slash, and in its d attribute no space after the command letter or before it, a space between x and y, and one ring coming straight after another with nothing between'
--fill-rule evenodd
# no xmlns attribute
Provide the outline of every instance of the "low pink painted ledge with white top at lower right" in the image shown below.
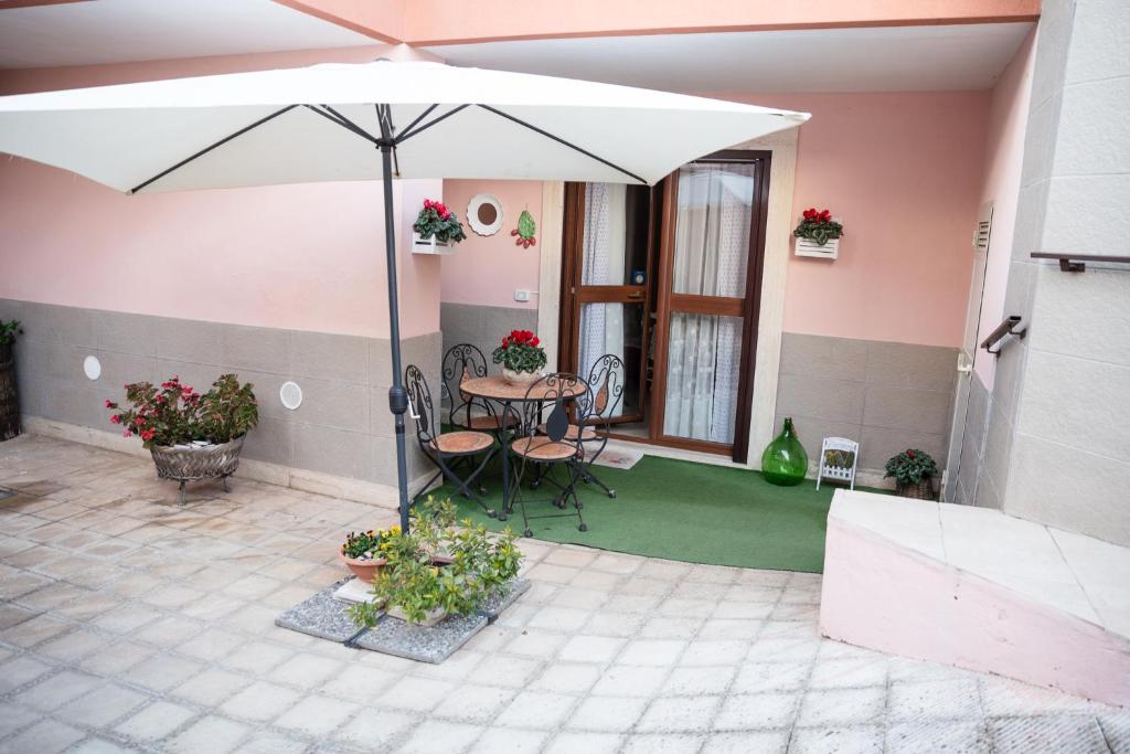
<svg viewBox="0 0 1130 754"><path fill-rule="evenodd" d="M1071 563L1058 546L1060 562L1042 549L1033 527L1053 546L1059 535L1070 537ZM1121 581L1130 551L1079 537L999 511L837 491L828 512L820 631L1130 707L1130 639L1122 623L1130 589L1118 587L1130 583Z"/></svg>

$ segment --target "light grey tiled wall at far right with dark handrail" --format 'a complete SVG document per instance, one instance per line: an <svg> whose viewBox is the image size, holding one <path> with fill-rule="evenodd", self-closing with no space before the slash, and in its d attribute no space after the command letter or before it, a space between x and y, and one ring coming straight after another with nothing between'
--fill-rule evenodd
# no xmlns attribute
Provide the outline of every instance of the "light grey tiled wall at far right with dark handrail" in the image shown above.
<svg viewBox="0 0 1130 754"><path fill-rule="evenodd" d="M1130 545L1130 270L1059 271L1032 252L1130 254L1124 2L1046 0L1006 295L1028 338L989 398L977 504Z"/></svg>

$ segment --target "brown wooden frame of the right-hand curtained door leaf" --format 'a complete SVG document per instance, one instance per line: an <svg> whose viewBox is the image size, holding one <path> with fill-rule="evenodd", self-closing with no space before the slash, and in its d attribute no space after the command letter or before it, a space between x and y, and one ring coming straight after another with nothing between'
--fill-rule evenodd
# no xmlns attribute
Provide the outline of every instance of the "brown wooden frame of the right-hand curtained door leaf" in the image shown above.
<svg viewBox="0 0 1130 754"><path fill-rule="evenodd" d="M672 437L662 433L663 411L667 400L667 343L670 333L671 303L681 294L671 293L671 276L675 266L675 220L678 206L678 173L664 180L662 237L660 240L660 275L655 306L655 379L652 382L652 410L649 425L651 441L662 442L687 450L729 454L734 462L746 463L749 457L749 432L754 401L754 371L757 367L757 328L762 309L762 277L765 269L765 227L768 219L770 171L773 153L767 149L727 149L707 155L696 163L760 163L757 202L749 217L749 257L746 267L746 291L741 309L733 311L733 300L718 297L716 302L703 302L697 313L720 314L742 318L741 364L738 367L738 408L734 416L733 444ZM702 298L697 296L696 298ZM711 305L713 304L713 305Z"/></svg>

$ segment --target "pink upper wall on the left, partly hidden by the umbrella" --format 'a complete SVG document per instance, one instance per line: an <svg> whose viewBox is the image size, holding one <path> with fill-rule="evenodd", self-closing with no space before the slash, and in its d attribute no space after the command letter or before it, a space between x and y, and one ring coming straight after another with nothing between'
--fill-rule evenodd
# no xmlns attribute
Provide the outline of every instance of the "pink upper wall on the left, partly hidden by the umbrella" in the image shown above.
<svg viewBox="0 0 1130 754"><path fill-rule="evenodd" d="M371 60L374 49L6 71L0 92ZM440 328L440 260L408 251L424 196L441 197L442 182L395 184L405 337ZM2 297L389 333L380 182L127 197L53 167L2 159L0 197Z"/></svg>

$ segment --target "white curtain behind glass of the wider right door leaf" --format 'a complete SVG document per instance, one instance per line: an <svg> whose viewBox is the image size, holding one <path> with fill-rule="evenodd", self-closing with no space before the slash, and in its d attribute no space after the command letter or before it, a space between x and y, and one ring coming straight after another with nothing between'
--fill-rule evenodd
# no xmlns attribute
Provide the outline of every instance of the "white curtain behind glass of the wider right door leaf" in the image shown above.
<svg viewBox="0 0 1130 754"><path fill-rule="evenodd" d="M679 170L671 291L744 297L754 166ZM741 361L741 320L671 315L663 433L732 443Z"/></svg>

